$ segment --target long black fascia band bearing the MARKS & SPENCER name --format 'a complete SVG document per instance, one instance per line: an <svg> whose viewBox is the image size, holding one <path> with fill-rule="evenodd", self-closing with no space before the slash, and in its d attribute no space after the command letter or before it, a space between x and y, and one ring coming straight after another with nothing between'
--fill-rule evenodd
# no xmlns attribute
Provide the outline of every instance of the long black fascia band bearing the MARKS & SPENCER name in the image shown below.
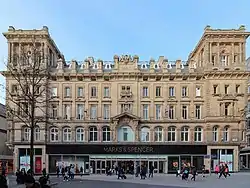
<svg viewBox="0 0 250 188"><path fill-rule="evenodd" d="M47 144L47 154L207 154L205 145Z"/></svg>

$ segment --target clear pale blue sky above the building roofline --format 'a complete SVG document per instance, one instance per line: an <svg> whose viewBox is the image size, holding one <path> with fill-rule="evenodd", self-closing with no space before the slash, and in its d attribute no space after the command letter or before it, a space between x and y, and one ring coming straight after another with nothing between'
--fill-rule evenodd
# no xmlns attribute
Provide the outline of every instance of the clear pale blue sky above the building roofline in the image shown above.
<svg viewBox="0 0 250 188"><path fill-rule="evenodd" d="M186 60L206 25L244 24L250 31L249 0L2 0L1 7L1 32L9 25L22 29L47 25L67 60L88 56L112 60L114 54L136 54L145 61L161 55ZM7 43L1 35L0 69L6 56Z"/></svg>

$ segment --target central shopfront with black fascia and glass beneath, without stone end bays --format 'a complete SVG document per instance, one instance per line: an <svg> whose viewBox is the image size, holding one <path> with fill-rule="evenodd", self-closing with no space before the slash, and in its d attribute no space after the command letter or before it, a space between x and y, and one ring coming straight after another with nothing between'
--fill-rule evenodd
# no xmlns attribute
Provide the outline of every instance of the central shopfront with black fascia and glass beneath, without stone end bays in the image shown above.
<svg viewBox="0 0 250 188"><path fill-rule="evenodd" d="M68 149L67 149L68 148ZM64 153L61 154L60 151ZM106 167L138 165L154 166L156 173L174 173L183 163L201 169L207 153L205 145L48 145L50 173L56 167L73 165L76 173L83 167L85 173L104 174Z"/></svg>

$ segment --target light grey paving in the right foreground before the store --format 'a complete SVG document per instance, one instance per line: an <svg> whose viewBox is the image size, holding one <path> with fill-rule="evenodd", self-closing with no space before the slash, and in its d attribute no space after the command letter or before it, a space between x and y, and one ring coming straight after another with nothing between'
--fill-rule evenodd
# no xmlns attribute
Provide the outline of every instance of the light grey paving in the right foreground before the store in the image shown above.
<svg viewBox="0 0 250 188"><path fill-rule="evenodd" d="M203 178L201 175L197 176L197 180L193 181L182 181L180 178L176 178L175 175L155 175L154 178L140 180L134 176L127 176L126 180L117 180L117 176L105 176L105 175L90 175L83 176L82 178L77 176L79 180L96 180L96 181L110 181L110 182L129 182L138 184L148 185L165 185L165 186L180 186L189 188L211 188L216 187L227 187L227 188L249 188L249 175L248 173L237 173L232 174L227 179L218 179L215 174L207 175Z"/></svg>

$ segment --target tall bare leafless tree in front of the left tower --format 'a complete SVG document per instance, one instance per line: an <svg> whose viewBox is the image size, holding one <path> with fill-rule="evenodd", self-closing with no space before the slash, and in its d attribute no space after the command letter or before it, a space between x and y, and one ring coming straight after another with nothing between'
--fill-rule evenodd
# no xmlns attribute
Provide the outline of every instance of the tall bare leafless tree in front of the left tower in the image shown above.
<svg viewBox="0 0 250 188"><path fill-rule="evenodd" d="M44 49L35 39L23 45L16 54L11 54L6 63L6 85L1 85L6 92L6 117L12 124L19 123L30 128L30 147L34 148L34 129L39 124L51 124L47 106L51 105L49 89L49 69ZM33 170L33 161L30 162Z"/></svg>

